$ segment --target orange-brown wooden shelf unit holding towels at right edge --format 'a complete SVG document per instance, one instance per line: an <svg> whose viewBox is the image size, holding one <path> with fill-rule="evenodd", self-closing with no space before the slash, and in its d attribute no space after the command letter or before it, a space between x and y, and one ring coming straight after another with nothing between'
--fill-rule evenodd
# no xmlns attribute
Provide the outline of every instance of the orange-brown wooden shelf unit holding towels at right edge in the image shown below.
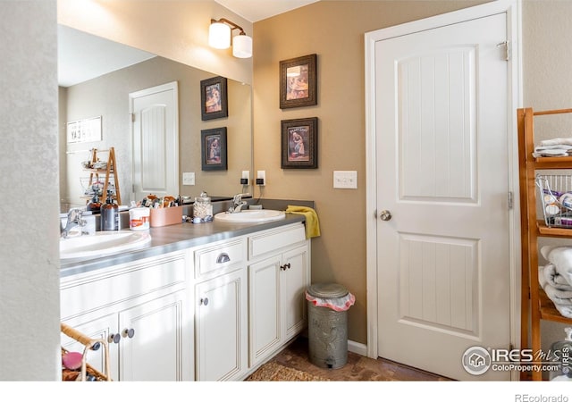
<svg viewBox="0 0 572 402"><path fill-rule="evenodd" d="M530 334L531 348L534 353L541 351L541 320L572 324L572 318L559 314L538 281L538 239L572 239L572 229L548 227L544 220L539 220L536 216L536 172L572 170L572 157L534 157L534 116L561 113L572 113L572 109L542 112L534 112L532 108L517 110L522 259L521 348L528 348L528 335ZM533 372L532 376L523 374L521 379L525 380L528 377L532 377L534 381L541 381L543 373Z"/></svg>

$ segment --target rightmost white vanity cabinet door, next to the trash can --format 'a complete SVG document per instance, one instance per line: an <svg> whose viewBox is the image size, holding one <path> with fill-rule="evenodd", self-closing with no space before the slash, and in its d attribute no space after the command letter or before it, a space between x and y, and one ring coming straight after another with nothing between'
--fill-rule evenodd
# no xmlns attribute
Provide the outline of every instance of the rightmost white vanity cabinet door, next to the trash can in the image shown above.
<svg viewBox="0 0 572 402"><path fill-rule="evenodd" d="M286 342L306 327L307 302L305 292L310 283L309 247L297 247L282 255L280 289L282 297L282 342Z"/></svg>

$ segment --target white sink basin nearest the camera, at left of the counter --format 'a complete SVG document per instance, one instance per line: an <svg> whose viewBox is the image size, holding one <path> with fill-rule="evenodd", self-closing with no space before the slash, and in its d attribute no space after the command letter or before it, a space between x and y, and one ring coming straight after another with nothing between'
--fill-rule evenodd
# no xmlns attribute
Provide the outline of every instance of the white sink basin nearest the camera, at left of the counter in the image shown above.
<svg viewBox="0 0 572 402"><path fill-rule="evenodd" d="M150 242L151 235L147 231L97 231L93 235L60 239L60 259L110 255Z"/></svg>

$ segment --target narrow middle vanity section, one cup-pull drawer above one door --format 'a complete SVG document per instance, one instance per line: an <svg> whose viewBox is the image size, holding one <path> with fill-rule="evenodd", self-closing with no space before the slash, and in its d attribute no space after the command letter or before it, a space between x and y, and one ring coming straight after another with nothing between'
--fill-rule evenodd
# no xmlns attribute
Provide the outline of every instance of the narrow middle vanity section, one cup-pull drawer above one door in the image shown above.
<svg viewBox="0 0 572 402"><path fill-rule="evenodd" d="M199 247L194 260L197 381L237 380L248 369L246 239Z"/></svg>

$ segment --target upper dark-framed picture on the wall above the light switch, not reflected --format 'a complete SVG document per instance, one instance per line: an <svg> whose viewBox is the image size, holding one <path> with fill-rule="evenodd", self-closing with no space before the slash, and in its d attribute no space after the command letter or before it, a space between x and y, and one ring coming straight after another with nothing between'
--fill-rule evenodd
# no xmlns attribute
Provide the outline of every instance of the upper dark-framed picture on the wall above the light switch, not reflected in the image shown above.
<svg viewBox="0 0 572 402"><path fill-rule="evenodd" d="M280 62L280 108L317 105L315 54Z"/></svg>

